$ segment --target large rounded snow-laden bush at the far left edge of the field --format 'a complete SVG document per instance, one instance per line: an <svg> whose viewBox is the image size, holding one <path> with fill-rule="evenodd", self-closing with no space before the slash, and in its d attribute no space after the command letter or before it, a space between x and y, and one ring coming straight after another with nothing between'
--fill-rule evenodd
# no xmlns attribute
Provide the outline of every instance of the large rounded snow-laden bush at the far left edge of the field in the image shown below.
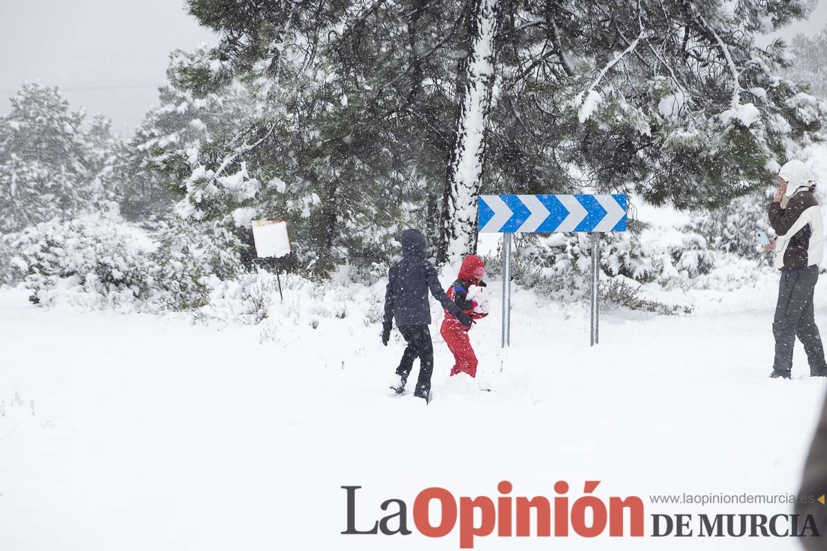
<svg viewBox="0 0 827 551"><path fill-rule="evenodd" d="M5 240L31 302L49 305L60 289L79 293L87 306L135 304L153 294L141 240L113 216L41 222Z"/></svg>

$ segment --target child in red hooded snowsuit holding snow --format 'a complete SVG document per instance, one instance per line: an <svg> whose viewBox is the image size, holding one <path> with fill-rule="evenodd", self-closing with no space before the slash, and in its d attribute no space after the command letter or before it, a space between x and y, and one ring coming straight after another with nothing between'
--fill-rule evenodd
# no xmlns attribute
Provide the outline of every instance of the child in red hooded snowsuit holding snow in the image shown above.
<svg viewBox="0 0 827 551"><path fill-rule="evenodd" d="M485 287L485 282L482 277L485 275L485 264L479 257L469 254L465 259L462 259L462 266L460 273L451 287L448 288L446 294L453 302L460 307L462 311L471 316L472 320L479 320L485 316L486 313L474 311L477 303L468 300L468 291L472 285L478 287ZM468 330L470 327L462 325L457 318L445 311L445 318L442 320L442 328L440 333L442 339L448 345L448 349L454 354L456 363L451 368L451 375L457 373L468 373L471 377L476 377L477 359L474 354L474 349L471 348L471 341L468 340Z"/></svg>

